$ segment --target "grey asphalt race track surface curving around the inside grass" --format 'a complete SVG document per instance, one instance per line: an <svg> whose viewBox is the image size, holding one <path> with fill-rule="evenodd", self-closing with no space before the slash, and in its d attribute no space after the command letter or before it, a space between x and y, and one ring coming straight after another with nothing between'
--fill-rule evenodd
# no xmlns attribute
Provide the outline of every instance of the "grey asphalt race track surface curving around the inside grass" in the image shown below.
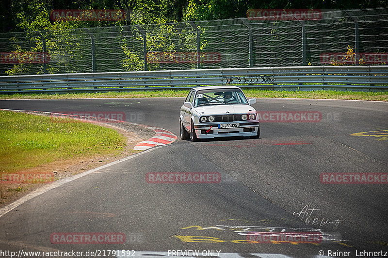
<svg viewBox="0 0 388 258"><path fill-rule="evenodd" d="M124 112L126 121L179 135L182 103L182 98L1 100L0 108ZM263 98L253 106L319 112L321 119L261 121L259 139L178 140L65 183L0 217L0 250L134 250L120 257L147 258L168 250L218 250L224 257L246 258L385 257L360 252L388 251L388 185L325 184L320 175L387 174L387 131L367 133L376 137L351 134L388 130L388 103ZM149 172L218 172L221 182L149 183ZM262 238L252 242L246 235L252 231L264 232ZM126 241L51 243L53 233L63 232L121 232ZM282 233L292 239L295 232L319 232L330 240L264 243L268 232L277 240ZM340 253L345 251L350 253Z"/></svg>

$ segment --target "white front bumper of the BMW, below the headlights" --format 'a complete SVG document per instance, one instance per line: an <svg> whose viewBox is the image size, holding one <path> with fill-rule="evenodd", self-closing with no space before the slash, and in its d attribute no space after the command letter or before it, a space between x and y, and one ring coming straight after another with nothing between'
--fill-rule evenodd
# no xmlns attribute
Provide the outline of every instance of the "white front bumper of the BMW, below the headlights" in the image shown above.
<svg viewBox="0 0 388 258"><path fill-rule="evenodd" d="M199 123L194 124L195 134L197 138L201 139L214 137L256 136L258 134L259 121L228 123L240 123L240 127L219 129L218 124L220 123Z"/></svg>

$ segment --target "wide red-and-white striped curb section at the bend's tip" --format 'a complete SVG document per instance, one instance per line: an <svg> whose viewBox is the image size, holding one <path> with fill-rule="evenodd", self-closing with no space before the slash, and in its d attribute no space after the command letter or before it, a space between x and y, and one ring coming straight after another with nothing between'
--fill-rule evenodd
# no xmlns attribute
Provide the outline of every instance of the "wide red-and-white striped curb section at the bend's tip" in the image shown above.
<svg viewBox="0 0 388 258"><path fill-rule="evenodd" d="M136 146L133 148L133 150L135 151L144 151L155 146L170 144L176 141L178 138L170 131L167 131L159 127L153 127L153 126L148 126L144 124L136 124L136 125L144 126L148 129L153 130L155 132L155 136L152 138L149 138L146 141L142 141L136 144Z"/></svg>

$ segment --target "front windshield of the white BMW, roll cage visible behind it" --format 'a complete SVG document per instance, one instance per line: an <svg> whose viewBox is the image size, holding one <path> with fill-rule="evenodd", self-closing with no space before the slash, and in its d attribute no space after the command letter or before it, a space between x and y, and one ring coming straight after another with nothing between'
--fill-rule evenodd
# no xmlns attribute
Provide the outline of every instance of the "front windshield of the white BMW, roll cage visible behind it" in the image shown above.
<svg viewBox="0 0 388 258"><path fill-rule="evenodd" d="M240 89L211 89L197 91L195 94L194 107L231 104L248 104L244 93Z"/></svg>

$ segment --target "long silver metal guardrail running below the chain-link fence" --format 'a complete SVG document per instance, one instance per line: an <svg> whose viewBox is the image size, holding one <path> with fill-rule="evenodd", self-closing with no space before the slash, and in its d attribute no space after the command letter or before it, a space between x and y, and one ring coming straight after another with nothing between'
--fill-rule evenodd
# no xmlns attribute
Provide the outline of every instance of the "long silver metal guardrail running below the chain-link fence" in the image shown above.
<svg viewBox="0 0 388 258"><path fill-rule="evenodd" d="M388 90L388 66L296 66L0 76L0 93L189 89L198 85L299 90Z"/></svg>

